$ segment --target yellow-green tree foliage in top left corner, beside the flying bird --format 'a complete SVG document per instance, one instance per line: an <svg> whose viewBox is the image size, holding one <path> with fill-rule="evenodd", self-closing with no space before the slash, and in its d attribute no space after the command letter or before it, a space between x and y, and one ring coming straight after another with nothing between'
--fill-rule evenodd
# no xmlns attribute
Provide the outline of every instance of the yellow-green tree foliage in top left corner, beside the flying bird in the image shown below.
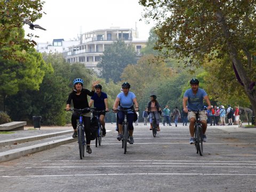
<svg viewBox="0 0 256 192"><path fill-rule="evenodd" d="M31 38L33 34L28 34L30 39L24 38L22 26L24 20L34 22L42 17L43 4L40 0L0 1L0 56L3 59L24 61L26 51L36 45Z"/></svg>

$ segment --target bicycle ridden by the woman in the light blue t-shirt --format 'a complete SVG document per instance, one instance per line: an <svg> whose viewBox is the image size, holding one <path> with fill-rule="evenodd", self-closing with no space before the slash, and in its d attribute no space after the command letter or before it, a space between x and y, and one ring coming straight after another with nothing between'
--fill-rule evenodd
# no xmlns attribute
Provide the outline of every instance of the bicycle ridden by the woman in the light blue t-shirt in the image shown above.
<svg viewBox="0 0 256 192"><path fill-rule="evenodd" d="M122 139L122 148L124 148L124 154L127 151L127 142L130 143L129 135L128 135L128 121L127 121L127 114L129 111L133 111L134 109L116 109L117 111L124 111L124 121L123 121L123 139Z"/></svg>

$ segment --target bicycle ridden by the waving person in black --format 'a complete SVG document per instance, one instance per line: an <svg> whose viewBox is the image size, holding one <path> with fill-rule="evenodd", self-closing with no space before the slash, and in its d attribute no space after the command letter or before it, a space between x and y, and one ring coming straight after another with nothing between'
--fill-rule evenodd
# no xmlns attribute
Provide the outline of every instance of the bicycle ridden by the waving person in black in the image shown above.
<svg viewBox="0 0 256 192"><path fill-rule="evenodd" d="M69 109L69 111L76 111L79 114L79 120L77 123L77 140L78 140L78 147L79 147L79 156L81 159L83 159L84 157L84 149L86 148L87 150L86 141L85 141L83 114L89 111L92 111L93 109L95 108Z"/></svg>

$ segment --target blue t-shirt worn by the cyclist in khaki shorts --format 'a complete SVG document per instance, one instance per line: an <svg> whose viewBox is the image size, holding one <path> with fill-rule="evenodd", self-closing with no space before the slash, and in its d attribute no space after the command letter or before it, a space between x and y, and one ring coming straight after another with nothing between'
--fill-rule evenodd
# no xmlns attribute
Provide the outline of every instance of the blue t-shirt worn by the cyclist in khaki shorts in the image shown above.
<svg viewBox="0 0 256 192"><path fill-rule="evenodd" d="M197 109L204 109L204 97L206 95L207 93L203 89L198 88L196 94L193 93L192 89L188 89L183 98L188 98L188 109L196 111Z"/></svg>

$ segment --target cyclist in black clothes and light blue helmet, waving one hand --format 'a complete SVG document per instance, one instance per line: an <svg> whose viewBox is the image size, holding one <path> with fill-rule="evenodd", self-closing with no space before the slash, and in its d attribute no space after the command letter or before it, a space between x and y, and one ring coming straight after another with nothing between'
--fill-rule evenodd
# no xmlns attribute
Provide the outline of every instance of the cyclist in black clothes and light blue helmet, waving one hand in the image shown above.
<svg viewBox="0 0 256 192"><path fill-rule="evenodd" d="M81 78L76 78L73 81L74 89L69 94L67 100L66 110L70 109L71 100L73 101L73 106L75 109L84 109L89 108L89 103L87 101L87 95L92 96L95 92L95 85L99 84L99 81L95 81L92 83L92 91L87 89L83 89L84 81ZM72 135L73 138L77 137L77 119L79 119L79 114L76 111L73 111L71 116L71 124L74 129L74 134ZM84 131L86 137L86 145L87 145L87 153L91 154L92 149L90 148L91 142L91 130L90 130L90 123L91 123L91 111L83 114L83 122L84 122Z"/></svg>

